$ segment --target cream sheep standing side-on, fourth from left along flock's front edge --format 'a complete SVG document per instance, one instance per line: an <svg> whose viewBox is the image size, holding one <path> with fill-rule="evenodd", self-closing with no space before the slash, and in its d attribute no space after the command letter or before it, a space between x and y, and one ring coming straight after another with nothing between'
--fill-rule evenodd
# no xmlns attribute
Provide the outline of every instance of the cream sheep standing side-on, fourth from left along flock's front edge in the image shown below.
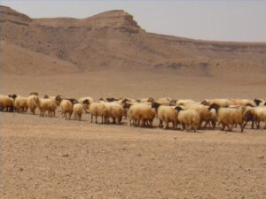
<svg viewBox="0 0 266 199"><path fill-rule="evenodd" d="M57 109L57 104L54 99L44 99L35 96L35 106L40 110L40 116L45 116L45 112L48 111L49 117L55 117L55 111Z"/></svg>

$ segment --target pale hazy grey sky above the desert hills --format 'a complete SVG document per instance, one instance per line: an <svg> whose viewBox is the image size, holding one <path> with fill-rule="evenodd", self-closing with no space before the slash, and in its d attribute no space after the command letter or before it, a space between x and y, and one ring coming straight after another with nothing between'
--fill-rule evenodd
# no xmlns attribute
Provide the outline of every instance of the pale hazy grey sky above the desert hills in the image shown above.
<svg viewBox="0 0 266 199"><path fill-rule="evenodd" d="M31 18L86 18L122 9L148 32L194 39L266 42L266 1L1 1Z"/></svg>

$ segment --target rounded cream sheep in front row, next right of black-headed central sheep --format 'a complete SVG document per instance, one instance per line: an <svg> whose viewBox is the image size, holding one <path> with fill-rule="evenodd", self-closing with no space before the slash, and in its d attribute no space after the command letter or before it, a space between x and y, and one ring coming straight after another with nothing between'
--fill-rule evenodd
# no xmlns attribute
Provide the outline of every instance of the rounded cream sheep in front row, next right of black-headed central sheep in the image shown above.
<svg viewBox="0 0 266 199"><path fill-rule="evenodd" d="M188 131L189 128L193 127L196 133L197 127L200 124L199 113L195 110L184 110L180 106L176 106L175 110L177 111L177 119L181 123L182 129Z"/></svg>

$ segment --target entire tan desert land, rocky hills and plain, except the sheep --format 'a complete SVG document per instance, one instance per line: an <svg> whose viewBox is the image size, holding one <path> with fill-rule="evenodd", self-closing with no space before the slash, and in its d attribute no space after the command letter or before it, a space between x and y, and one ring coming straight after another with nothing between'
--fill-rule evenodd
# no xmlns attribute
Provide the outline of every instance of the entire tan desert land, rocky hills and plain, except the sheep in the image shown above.
<svg viewBox="0 0 266 199"><path fill-rule="evenodd" d="M1 95L266 100L265 42L148 33L122 10L32 19L0 5L0 29ZM0 197L266 198L265 129L157 124L0 112Z"/></svg>

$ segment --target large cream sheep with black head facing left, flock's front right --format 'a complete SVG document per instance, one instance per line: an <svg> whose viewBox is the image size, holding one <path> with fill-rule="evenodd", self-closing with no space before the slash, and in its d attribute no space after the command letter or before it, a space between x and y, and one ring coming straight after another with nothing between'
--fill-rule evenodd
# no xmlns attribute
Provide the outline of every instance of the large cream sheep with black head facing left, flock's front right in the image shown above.
<svg viewBox="0 0 266 199"><path fill-rule="evenodd" d="M227 126L229 131L232 131L233 126L239 124L241 128L241 133L243 133L243 119L242 114L239 110L232 108L224 108L216 103L213 103L208 107L209 111L212 109L215 109L215 120L218 123L222 123L222 131L224 130L225 126Z"/></svg>

